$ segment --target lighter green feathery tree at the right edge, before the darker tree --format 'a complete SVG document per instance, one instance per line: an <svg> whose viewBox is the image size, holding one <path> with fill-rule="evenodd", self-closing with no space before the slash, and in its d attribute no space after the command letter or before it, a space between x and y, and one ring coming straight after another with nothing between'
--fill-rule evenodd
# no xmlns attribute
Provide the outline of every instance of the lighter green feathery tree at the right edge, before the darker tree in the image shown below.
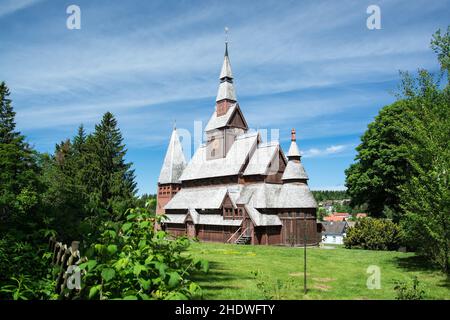
<svg viewBox="0 0 450 320"><path fill-rule="evenodd" d="M425 75L423 77L426 77ZM450 87L426 82L410 98L418 107L399 126L411 167L401 187L405 241L449 273L450 259Z"/></svg>

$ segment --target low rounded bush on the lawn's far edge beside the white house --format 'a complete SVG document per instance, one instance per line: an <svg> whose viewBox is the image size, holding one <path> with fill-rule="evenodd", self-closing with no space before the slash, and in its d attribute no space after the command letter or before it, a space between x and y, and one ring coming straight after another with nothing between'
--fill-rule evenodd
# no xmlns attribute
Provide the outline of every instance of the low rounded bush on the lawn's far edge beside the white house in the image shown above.
<svg viewBox="0 0 450 320"><path fill-rule="evenodd" d="M396 250L400 241L400 227L391 220L364 218L347 230L344 245L348 249Z"/></svg>

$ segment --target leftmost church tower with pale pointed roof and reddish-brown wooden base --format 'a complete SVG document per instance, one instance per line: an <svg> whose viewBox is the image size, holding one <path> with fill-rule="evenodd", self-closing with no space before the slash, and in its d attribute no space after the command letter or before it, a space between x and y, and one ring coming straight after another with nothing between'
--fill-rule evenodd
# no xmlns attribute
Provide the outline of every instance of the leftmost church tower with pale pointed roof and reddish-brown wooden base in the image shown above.
<svg viewBox="0 0 450 320"><path fill-rule="evenodd" d="M169 146L167 148L166 157L159 173L158 179L158 195L156 202L156 213L164 213L164 206L175 196L181 188L179 180L184 168L186 160L184 158L183 149L181 148L180 139L177 129L174 128L170 137Z"/></svg>

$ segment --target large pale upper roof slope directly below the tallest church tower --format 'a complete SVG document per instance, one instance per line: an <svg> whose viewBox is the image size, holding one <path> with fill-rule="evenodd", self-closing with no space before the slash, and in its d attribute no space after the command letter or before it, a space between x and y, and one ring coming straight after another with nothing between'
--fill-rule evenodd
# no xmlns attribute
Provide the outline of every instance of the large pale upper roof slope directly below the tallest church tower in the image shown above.
<svg viewBox="0 0 450 320"><path fill-rule="evenodd" d="M213 177L237 175L245 160L256 148L258 133L247 133L236 137L225 158L206 159L206 145L197 149L191 161L184 169L180 180L195 180Z"/></svg>

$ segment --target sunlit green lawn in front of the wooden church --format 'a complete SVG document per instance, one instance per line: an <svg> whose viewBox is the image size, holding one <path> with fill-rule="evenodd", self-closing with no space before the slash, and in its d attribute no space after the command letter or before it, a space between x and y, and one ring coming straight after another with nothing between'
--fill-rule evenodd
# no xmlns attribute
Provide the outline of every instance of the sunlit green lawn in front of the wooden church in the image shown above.
<svg viewBox="0 0 450 320"><path fill-rule="evenodd" d="M450 299L450 281L412 253L308 248L305 295L303 248L193 243L190 251L210 262L208 274L195 275L205 299L395 299L395 281L414 276L426 299ZM367 288L371 265L380 268L380 289Z"/></svg>

